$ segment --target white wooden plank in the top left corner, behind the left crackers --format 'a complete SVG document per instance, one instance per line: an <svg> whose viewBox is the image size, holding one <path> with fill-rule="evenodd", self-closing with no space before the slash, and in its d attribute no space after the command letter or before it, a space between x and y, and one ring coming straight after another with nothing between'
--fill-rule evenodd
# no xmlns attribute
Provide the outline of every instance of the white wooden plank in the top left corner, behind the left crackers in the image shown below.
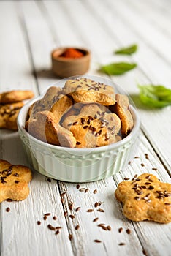
<svg viewBox="0 0 171 256"><path fill-rule="evenodd" d="M0 91L35 88L32 67L20 20L13 1L1 1L0 9Z"/></svg>

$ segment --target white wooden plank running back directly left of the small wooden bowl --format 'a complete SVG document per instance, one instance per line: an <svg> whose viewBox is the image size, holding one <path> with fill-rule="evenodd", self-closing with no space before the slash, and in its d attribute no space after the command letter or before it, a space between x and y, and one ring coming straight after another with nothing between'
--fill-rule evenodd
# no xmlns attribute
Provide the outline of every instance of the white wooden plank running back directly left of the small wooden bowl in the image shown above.
<svg viewBox="0 0 171 256"><path fill-rule="evenodd" d="M59 40L54 41L45 20L45 12L41 12L39 4L39 1L18 3L18 12L23 13L21 20L26 26L39 91L42 93L58 80L51 70L50 53L59 46Z"/></svg>

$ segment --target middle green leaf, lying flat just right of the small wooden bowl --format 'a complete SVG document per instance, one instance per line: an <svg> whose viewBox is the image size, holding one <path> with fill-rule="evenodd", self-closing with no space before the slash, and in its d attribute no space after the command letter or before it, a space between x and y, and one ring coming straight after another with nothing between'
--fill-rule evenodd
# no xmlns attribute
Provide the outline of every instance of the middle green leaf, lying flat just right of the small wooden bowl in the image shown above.
<svg viewBox="0 0 171 256"><path fill-rule="evenodd" d="M122 75L123 73L128 72L131 69L134 69L134 67L137 67L137 64L117 62L102 66L101 71L106 73L107 75Z"/></svg>

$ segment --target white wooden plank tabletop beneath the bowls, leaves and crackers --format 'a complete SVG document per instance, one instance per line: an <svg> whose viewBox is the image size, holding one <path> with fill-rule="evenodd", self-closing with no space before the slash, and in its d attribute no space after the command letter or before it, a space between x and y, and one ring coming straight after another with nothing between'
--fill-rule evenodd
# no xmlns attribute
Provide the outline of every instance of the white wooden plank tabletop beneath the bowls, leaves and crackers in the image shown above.
<svg viewBox="0 0 171 256"><path fill-rule="evenodd" d="M99 64L137 62L137 69L110 78L129 94L138 93L137 83L171 88L170 0L1 1L0 24L0 91L31 89L36 95L45 91L58 80L50 71L50 51L61 45L91 50L90 75L100 75ZM132 57L113 55L113 50L132 43L139 45ZM123 217L114 196L118 182L136 173L153 173L161 181L170 182L171 108L138 111L142 122L138 158L126 171L80 184L80 188L89 189L87 193L80 192L77 184L49 182L34 172L26 200L1 203L2 256L171 255L171 225L130 222ZM0 130L0 159L28 165L18 132ZM63 192L66 194L61 201ZM104 212L94 207L99 201ZM94 211L87 212L89 208ZM46 213L51 215L44 220ZM93 222L96 217L99 220ZM111 230L98 227L100 223L110 225ZM48 224L61 226L60 233L55 235ZM77 230L76 225L80 226Z"/></svg>

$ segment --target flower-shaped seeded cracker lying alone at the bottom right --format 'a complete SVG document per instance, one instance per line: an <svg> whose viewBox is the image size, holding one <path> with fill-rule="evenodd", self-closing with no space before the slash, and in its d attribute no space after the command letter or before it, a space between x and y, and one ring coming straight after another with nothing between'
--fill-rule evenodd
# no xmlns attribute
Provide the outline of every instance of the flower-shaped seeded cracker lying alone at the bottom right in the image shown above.
<svg viewBox="0 0 171 256"><path fill-rule="evenodd" d="M122 181L115 197L123 203L123 214L128 219L171 222L171 184L152 174L143 173L132 181Z"/></svg>

